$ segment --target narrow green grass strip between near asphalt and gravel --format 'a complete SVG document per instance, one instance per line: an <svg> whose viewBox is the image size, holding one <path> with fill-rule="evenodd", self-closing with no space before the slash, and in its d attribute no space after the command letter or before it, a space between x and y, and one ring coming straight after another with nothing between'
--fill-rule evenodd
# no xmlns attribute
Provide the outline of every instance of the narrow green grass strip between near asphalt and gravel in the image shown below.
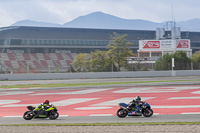
<svg viewBox="0 0 200 133"><path fill-rule="evenodd" d="M2 124L0 126L128 126L128 125L200 125L200 122L151 122L151 123L60 123L60 124Z"/></svg>

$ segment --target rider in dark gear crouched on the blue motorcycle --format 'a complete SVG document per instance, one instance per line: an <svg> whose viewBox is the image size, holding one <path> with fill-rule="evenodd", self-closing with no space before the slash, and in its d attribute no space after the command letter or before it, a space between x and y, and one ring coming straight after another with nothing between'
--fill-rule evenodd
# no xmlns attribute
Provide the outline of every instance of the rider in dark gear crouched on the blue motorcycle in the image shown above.
<svg viewBox="0 0 200 133"><path fill-rule="evenodd" d="M132 111L134 111L136 114L141 115L141 111L140 111L140 103L143 103L143 101L141 101L141 97L140 96L136 96L135 99L133 99L133 101L131 101L129 103L128 108Z"/></svg>

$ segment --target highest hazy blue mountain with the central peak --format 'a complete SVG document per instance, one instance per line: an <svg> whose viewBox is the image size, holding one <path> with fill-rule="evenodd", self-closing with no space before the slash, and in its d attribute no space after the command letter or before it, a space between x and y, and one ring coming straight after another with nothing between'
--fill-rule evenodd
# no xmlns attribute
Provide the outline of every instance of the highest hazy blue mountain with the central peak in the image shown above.
<svg viewBox="0 0 200 133"><path fill-rule="evenodd" d="M65 27L155 30L160 23L140 19L122 19L102 12L94 12L63 24Z"/></svg>

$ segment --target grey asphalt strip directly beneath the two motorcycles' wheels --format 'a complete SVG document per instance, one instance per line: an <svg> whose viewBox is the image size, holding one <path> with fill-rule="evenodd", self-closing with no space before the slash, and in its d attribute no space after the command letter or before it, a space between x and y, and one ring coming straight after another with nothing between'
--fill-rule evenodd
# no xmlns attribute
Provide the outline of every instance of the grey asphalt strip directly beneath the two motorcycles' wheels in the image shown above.
<svg viewBox="0 0 200 133"><path fill-rule="evenodd" d="M57 120L49 119L32 119L24 120L22 117L2 117L2 124L40 124L40 123L148 123L148 122L199 122L200 115L153 115L150 118L143 116L128 116L126 118L118 118L117 116L73 116L59 117Z"/></svg>

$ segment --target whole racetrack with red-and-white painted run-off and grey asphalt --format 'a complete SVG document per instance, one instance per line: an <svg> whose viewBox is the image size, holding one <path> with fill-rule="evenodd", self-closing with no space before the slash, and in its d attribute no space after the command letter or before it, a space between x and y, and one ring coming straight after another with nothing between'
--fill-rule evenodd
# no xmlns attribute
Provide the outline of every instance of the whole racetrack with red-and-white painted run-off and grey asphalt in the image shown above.
<svg viewBox="0 0 200 133"><path fill-rule="evenodd" d="M114 82L114 81L153 81L184 80L199 77L162 77L162 78L123 78L100 80L53 80L51 83L77 82ZM2 81L1 84L49 83L50 81ZM178 84L178 85L177 85ZM200 121L199 81L180 81L168 83L140 83L109 86L84 86L45 89L1 89L0 124L20 123L109 123L109 122L171 122ZM119 102L129 102L140 95L152 105L155 115L151 118L117 118ZM25 121L23 113L27 105L38 105L49 99L59 109L58 120L35 119Z"/></svg>

